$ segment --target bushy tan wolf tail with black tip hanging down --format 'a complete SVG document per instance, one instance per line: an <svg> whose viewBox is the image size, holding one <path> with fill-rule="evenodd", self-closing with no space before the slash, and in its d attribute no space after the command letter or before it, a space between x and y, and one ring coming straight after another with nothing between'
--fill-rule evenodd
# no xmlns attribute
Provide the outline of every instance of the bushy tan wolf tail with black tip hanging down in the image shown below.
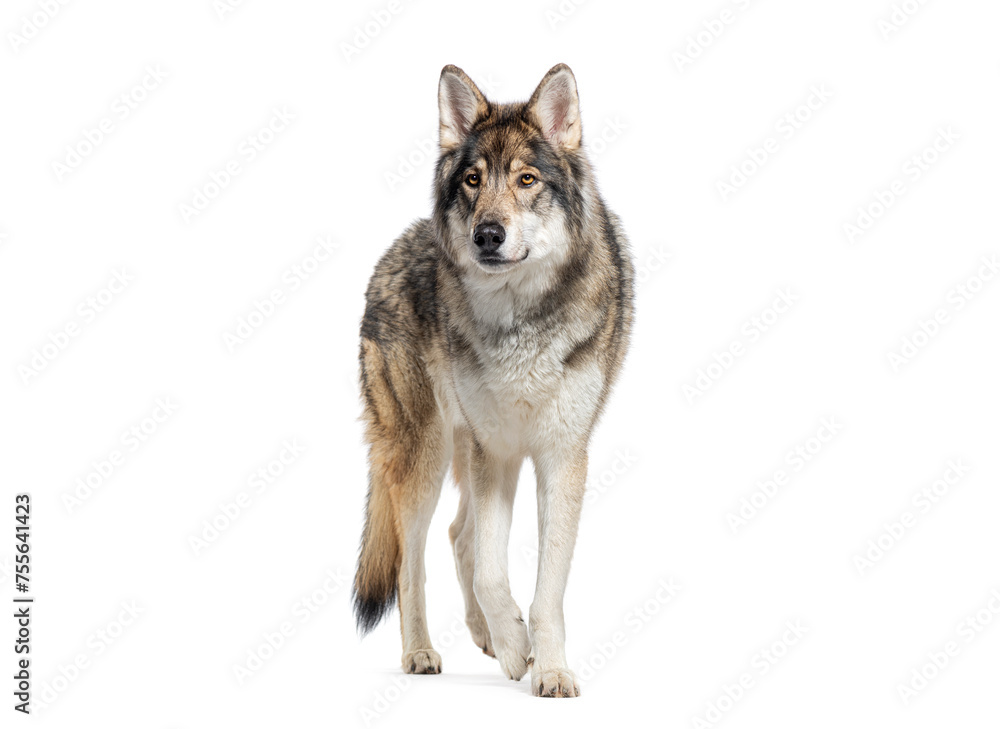
<svg viewBox="0 0 1000 729"><path fill-rule="evenodd" d="M376 477L368 484L365 530L354 576L354 616L361 635L378 625L396 604L399 534L388 485L380 481Z"/></svg>

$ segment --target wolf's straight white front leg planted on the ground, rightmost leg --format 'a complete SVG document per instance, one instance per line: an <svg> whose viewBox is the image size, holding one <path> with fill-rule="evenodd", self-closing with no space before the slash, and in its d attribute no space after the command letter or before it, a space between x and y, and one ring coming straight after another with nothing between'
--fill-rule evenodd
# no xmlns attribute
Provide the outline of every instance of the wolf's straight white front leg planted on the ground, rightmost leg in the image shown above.
<svg viewBox="0 0 1000 729"><path fill-rule="evenodd" d="M535 696L580 695L576 676L566 665L563 595L576 543L587 479L587 449L580 446L535 459L538 480L538 577L528 613L534 662Z"/></svg>

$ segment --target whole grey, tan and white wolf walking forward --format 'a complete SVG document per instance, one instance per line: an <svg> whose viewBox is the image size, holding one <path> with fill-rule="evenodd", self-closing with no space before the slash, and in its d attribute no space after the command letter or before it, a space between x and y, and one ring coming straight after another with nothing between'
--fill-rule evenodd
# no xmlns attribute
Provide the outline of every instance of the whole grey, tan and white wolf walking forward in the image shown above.
<svg viewBox="0 0 1000 729"><path fill-rule="evenodd" d="M466 623L537 696L579 696L566 664L569 577L591 433L632 328L633 269L582 147L576 79L555 66L525 103L489 101L459 68L438 90L434 211L385 253L361 323L369 448L354 582L362 634L399 602L403 670L439 673L424 544L450 464L449 529ZM538 486L528 622L507 548L525 458Z"/></svg>

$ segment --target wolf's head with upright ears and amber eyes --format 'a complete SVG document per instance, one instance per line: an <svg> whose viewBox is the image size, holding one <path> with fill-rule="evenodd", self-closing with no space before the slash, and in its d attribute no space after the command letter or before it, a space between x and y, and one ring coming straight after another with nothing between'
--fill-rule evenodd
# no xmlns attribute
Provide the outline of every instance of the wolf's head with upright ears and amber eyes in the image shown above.
<svg viewBox="0 0 1000 729"><path fill-rule="evenodd" d="M526 103L494 104L460 68L438 89L441 156L435 223L444 252L484 284L567 263L593 194L569 66L549 71Z"/></svg>

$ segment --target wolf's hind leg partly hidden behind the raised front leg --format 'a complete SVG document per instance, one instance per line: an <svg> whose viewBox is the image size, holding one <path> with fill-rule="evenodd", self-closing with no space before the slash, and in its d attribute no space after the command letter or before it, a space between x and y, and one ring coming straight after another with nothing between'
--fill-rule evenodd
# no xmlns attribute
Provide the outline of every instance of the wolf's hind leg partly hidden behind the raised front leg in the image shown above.
<svg viewBox="0 0 1000 729"><path fill-rule="evenodd" d="M475 518L472 513L472 495L469 484L472 478L469 472L469 448L471 443L469 433L464 428L455 430L455 458L452 471L455 483L458 485L458 514L448 529L451 546L455 553L455 570L458 572L458 584L465 598L465 624L469 627L473 642L488 656L496 658L493 652L493 641L490 640L490 629L486 624L486 616L479 607L479 601L473 591L473 577L476 566L476 530Z"/></svg>

